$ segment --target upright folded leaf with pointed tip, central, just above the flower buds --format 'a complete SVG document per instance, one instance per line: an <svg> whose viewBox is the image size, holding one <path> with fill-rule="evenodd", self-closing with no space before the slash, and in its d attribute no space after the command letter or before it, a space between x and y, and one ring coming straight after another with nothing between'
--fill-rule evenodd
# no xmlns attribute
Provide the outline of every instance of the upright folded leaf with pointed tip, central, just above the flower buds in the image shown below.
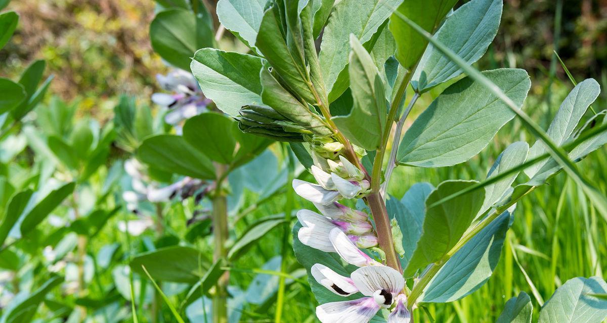
<svg viewBox="0 0 607 323"><path fill-rule="evenodd" d="M350 38L350 88L354 107L350 115L333 119L337 128L353 144L376 150L381 145L388 102L385 99L385 85L377 67L353 35Z"/></svg>

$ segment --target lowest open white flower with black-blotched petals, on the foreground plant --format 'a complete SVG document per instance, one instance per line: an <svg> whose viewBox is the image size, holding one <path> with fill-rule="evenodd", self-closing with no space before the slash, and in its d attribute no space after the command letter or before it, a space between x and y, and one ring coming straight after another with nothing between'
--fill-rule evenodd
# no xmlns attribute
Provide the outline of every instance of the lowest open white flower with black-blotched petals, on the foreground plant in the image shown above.
<svg viewBox="0 0 607 323"><path fill-rule="evenodd" d="M337 275L337 276L336 276ZM316 277L314 277L316 279ZM334 280L331 280L333 278ZM342 295L333 286L347 287L344 284L344 277L338 275L333 270L326 268L322 275L323 282L320 284L328 287L334 293ZM399 271L384 266L361 267L350 276L353 287L358 289L367 297L354 301L330 302L316 307L316 316L322 323L367 323L377 314L381 308L389 308L394 304L402 288L405 286L405 279L402 278ZM342 295L347 296L347 295ZM404 322L404 321L394 321Z"/></svg>

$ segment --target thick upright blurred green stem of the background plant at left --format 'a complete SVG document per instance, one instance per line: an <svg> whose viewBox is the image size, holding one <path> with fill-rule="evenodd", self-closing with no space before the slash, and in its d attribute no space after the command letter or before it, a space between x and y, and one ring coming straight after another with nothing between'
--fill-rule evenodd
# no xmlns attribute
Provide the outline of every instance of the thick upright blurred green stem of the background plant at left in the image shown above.
<svg viewBox="0 0 607 323"><path fill-rule="evenodd" d="M223 174L228 170L227 165L215 165L217 179L225 178ZM213 236L215 241L215 251L213 253L214 261L226 258L228 249L226 241L228 239L228 202L222 190L223 180L217 181L215 194L213 197ZM215 285L215 293L213 295L213 322L227 323L228 322L228 281L229 274L224 273Z"/></svg>

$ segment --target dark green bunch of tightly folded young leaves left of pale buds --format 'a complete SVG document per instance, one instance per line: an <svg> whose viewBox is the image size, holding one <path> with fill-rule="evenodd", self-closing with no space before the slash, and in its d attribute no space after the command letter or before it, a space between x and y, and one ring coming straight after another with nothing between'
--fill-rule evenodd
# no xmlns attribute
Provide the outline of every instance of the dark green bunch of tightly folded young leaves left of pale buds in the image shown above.
<svg viewBox="0 0 607 323"><path fill-rule="evenodd" d="M239 113L238 127L245 133L287 142L302 142L312 133L266 105L245 105Z"/></svg>

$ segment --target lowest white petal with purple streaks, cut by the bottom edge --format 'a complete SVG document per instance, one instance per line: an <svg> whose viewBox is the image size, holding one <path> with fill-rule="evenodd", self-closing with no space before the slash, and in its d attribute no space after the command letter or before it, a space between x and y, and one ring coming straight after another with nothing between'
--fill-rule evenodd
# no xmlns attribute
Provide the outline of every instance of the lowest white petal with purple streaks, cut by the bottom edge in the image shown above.
<svg viewBox="0 0 607 323"><path fill-rule="evenodd" d="M373 298L361 298L319 305L316 316L322 323L368 323L378 311Z"/></svg>

